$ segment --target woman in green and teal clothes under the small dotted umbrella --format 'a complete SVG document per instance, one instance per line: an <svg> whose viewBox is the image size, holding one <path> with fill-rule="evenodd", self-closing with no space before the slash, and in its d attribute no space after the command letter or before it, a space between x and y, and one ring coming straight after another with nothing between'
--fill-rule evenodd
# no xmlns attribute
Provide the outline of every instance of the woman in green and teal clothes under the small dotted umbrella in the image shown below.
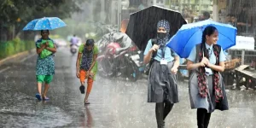
<svg viewBox="0 0 256 128"><path fill-rule="evenodd" d="M53 54L56 52L56 47L53 40L49 38L49 30L42 30L41 36L42 38L38 39L36 42L38 53L38 61L36 67L38 94L36 94L36 97L39 101L42 99L48 101L49 97L47 97L46 94L49 89L49 84L55 74L55 61L53 59ZM42 84L44 84L43 95L41 93Z"/></svg>

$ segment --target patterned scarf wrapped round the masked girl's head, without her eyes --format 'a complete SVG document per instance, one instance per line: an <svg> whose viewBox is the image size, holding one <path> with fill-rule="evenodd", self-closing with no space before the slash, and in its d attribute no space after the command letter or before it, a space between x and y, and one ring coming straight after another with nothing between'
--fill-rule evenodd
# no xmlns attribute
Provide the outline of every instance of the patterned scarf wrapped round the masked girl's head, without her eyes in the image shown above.
<svg viewBox="0 0 256 128"><path fill-rule="evenodd" d="M170 23L167 20L160 20L157 23L157 30L160 27L164 27L166 29L166 37L165 38L160 38L157 36L157 43L160 44L160 47L162 46L166 46L166 43L169 41L170 39Z"/></svg>

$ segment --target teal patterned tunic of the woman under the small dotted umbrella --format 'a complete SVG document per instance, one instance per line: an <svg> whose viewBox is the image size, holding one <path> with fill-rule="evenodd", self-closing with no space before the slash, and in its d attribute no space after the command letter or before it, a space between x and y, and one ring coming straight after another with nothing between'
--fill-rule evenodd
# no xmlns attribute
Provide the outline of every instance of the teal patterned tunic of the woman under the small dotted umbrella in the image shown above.
<svg viewBox="0 0 256 128"><path fill-rule="evenodd" d="M42 38L38 39L38 41L36 42L37 48L40 47L39 44L41 42L42 42ZM54 43L53 40L52 42ZM49 55L45 58L41 58L40 55L38 55L36 75L54 75L54 74L55 74L55 61L53 59L53 55Z"/></svg>

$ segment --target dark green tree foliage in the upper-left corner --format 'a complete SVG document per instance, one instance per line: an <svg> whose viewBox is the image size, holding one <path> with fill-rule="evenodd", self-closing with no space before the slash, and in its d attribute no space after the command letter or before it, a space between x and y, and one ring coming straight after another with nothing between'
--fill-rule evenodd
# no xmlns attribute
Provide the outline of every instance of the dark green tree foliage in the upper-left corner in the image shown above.
<svg viewBox="0 0 256 128"><path fill-rule="evenodd" d="M12 38L12 31L18 34L26 24L37 18L56 16L61 19L80 11L83 0L1 0L0 3L0 40L3 34Z"/></svg>

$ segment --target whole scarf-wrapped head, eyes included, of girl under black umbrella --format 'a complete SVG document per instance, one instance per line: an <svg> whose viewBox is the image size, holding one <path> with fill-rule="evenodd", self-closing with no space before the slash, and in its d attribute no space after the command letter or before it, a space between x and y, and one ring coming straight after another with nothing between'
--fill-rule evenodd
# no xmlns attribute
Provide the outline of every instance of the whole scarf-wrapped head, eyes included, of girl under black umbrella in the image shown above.
<svg viewBox="0 0 256 128"><path fill-rule="evenodd" d="M170 24L167 20L160 20L157 23L157 43L160 47L165 46L170 39Z"/></svg>

